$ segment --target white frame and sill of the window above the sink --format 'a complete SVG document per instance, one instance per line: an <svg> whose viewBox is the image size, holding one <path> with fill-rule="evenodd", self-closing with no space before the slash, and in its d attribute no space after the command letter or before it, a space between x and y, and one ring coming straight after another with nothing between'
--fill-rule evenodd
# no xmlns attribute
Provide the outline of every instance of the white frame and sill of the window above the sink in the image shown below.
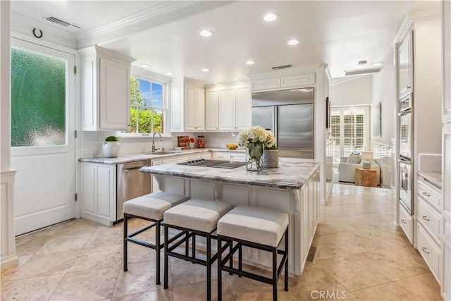
<svg viewBox="0 0 451 301"><path fill-rule="evenodd" d="M153 73L149 70L144 70L142 68L137 68L135 66L132 66L130 70L130 79L131 78L139 78L140 80L148 80L149 82L156 82L163 86L163 108L161 108L161 111L163 111L163 134L161 134L162 137L172 137L171 131L170 131L170 107L169 107L169 91L171 91L171 78L167 78L166 76ZM132 102L130 99L130 106L129 109L132 106ZM160 109L160 108L158 108ZM131 116L130 116L131 118ZM121 131L118 131L116 135L121 138L149 138L152 133L123 133Z"/></svg>

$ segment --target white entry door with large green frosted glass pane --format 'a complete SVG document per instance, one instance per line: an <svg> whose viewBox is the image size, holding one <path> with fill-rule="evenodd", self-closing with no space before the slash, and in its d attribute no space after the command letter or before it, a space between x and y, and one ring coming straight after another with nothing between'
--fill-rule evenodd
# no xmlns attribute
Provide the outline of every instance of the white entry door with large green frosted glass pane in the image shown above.
<svg viewBox="0 0 451 301"><path fill-rule="evenodd" d="M16 235L75 217L75 55L12 39Z"/></svg>

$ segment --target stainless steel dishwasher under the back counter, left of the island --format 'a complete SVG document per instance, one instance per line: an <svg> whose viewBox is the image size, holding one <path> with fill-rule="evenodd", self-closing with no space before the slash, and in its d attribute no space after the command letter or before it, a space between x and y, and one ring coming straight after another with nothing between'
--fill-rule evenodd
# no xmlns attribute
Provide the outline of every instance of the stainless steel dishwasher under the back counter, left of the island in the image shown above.
<svg viewBox="0 0 451 301"><path fill-rule="evenodd" d="M152 175L150 173L140 172L140 168L150 165L150 160L118 164L116 221L124 218L124 202L151 192Z"/></svg>

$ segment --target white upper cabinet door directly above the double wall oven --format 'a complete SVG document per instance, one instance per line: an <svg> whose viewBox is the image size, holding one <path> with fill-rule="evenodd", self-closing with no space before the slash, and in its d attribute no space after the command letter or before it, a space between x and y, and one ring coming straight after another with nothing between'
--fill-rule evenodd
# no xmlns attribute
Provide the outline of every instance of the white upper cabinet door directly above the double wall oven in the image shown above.
<svg viewBox="0 0 451 301"><path fill-rule="evenodd" d="M414 71L413 71L413 55L412 55L412 31L410 31L398 48L398 80L399 80L399 97L402 98L414 92Z"/></svg>

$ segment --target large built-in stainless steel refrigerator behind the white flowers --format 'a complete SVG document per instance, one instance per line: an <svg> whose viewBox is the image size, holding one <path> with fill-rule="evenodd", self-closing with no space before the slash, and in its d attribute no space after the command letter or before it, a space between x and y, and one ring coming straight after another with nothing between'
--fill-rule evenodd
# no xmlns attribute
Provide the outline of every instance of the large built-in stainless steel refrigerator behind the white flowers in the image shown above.
<svg viewBox="0 0 451 301"><path fill-rule="evenodd" d="M314 158L314 89L252 93L252 125L271 130L280 156Z"/></svg>

